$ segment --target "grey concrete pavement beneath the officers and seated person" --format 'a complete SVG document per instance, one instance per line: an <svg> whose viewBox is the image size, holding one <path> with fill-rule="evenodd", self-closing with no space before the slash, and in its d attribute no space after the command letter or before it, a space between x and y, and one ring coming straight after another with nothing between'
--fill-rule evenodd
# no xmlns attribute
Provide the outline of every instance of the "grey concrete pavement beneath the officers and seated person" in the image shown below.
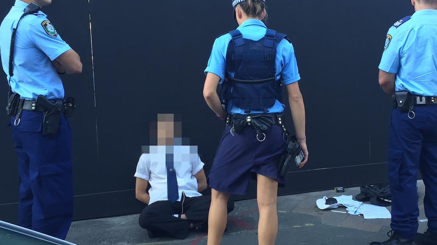
<svg viewBox="0 0 437 245"><path fill-rule="evenodd" d="M419 191L419 232L427 227L424 221L423 197L425 188L418 181ZM355 195L359 187L345 188L344 193L325 190L278 197L279 229L275 244L296 245L366 245L371 241L388 238L390 219L364 219L364 217L319 210L316 200L336 197L342 194ZM390 207L387 207L390 210ZM336 210L345 211L345 208ZM204 245L206 233L192 231L185 240L171 238L149 238L147 232L138 226L138 216L83 220L73 222L66 240L80 245ZM235 203L235 209L228 217L228 230L222 244L258 244L258 208L256 200Z"/></svg>

